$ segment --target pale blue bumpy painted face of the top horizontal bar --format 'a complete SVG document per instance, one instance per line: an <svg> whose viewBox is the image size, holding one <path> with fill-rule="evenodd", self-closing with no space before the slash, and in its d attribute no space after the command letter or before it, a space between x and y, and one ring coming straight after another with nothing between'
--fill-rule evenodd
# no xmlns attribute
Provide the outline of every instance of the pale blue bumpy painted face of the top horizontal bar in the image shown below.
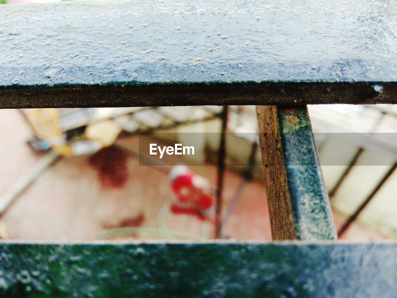
<svg viewBox="0 0 397 298"><path fill-rule="evenodd" d="M397 81L387 1L0 7L0 85Z"/></svg>

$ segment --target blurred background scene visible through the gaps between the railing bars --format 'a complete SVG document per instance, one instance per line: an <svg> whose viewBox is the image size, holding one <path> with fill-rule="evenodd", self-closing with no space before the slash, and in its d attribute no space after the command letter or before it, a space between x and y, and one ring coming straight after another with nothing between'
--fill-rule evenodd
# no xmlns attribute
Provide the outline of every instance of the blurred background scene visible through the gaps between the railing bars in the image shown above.
<svg viewBox="0 0 397 298"><path fill-rule="evenodd" d="M31 2L55 1L0 0ZM339 238L396 238L397 106L308 108ZM271 240L255 107L230 106L227 122L223 112L219 106L0 110L0 238L204 240L214 237L218 196L220 238ZM173 209L178 194L170 163L139 149L189 135L195 155L174 162L202 179L195 191L211 204Z"/></svg>

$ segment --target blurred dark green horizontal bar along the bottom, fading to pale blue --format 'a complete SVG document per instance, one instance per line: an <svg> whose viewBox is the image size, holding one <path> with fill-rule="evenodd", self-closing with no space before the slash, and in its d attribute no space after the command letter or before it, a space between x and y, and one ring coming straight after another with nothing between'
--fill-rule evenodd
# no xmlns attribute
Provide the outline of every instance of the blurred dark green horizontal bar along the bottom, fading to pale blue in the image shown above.
<svg viewBox="0 0 397 298"><path fill-rule="evenodd" d="M395 297L397 244L0 243L1 297Z"/></svg>

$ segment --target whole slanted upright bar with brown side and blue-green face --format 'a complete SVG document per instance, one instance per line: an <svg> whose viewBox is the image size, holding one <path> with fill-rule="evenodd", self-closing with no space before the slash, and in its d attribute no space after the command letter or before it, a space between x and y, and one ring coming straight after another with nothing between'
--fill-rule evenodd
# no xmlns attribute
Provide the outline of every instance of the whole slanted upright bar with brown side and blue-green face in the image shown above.
<svg viewBox="0 0 397 298"><path fill-rule="evenodd" d="M335 226L306 106L257 106L274 240L334 240Z"/></svg>

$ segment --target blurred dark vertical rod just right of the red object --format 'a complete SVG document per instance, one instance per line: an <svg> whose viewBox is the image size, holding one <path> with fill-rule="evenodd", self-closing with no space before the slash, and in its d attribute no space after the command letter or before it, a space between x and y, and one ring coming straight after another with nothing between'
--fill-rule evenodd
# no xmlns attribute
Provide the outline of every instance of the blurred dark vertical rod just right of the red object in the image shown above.
<svg viewBox="0 0 397 298"><path fill-rule="evenodd" d="M218 181L216 185L216 211L215 211L215 220L216 220L216 230L215 230L215 238L220 238L221 232L221 224L220 218L222 213L222 190L224 184L224 172L225 172L225 157L226 157L226 127L227 127L227 114L229 111L228 106L224 106L222 109L222 132L221 139L218 150Z"/></svg>

